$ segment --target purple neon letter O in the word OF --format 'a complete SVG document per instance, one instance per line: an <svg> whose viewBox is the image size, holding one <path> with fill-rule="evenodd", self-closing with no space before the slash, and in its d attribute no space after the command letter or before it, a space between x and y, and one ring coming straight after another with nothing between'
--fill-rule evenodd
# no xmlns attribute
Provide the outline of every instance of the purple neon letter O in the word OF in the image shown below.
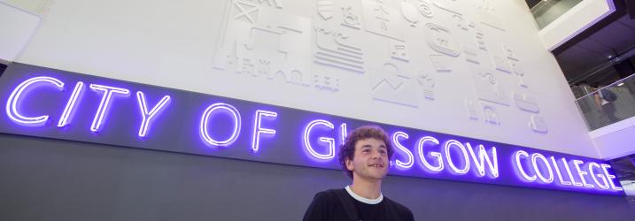
<svg viewBox="0 0 635 221"><path fill-rule="evenodd" d="M209 118L212 116L212 114L216 110L221 110L221 111L224 110L224 111L230 113L232 118L234 119L234 130L232 131L232 133L229 136L229 138L224 140L224 141L216 141L216 140L214 140L209 135L209 131L207 129L207 126L209 125ZM238 139L238 134L240 133L240 126L241 125L242 125L242 123L241 123L241 119L240 119L240 112L238 112L238 110L236 110L236 108L234 106L229 105L227 103L214 103L214 104L210 105L209 107L207 107L207 109L205 109L205 112L203 113L203 117L201 118L201 124L199 126L199 133L200 133L201 137L203 138L203 140L205 141L205 143L207 143L207 144L209 144L209 145L211 145L213 147L224 148L224 147L228 147L229 145L234 143L234 141L236 141L236 139Z"/></svg>

